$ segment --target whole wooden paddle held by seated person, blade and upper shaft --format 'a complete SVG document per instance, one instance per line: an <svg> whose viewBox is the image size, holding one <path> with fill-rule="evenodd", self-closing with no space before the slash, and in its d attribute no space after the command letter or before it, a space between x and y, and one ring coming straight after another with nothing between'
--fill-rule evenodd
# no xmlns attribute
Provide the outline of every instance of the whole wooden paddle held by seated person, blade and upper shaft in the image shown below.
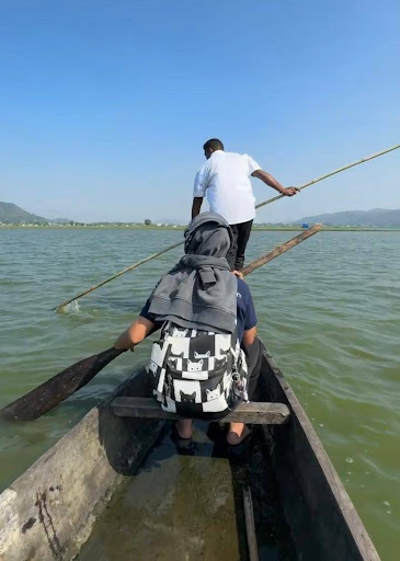
<svg viewBox="0 0 400 561"><path fill-rule="evenodd" d="M282 253L285 253L285 251L307 240L307 238L313 236L320 229L321 225L316 225L292 240L282 243L278 248L262 257L252 261L243 268L242 275L249 275L268 261L272 261L278 255L282 255ZM69 366L22 398L10 403L10 405L0 410L0 419L9 421L32 421L33 419L44 415L47 411L50 411L61 403L61 401L65 401L77 390L85 386L104 366L114 360L114 358L122 353L124 353L124 351L111 347L98 355L90 356L89 358L84 358Z"/></svg>

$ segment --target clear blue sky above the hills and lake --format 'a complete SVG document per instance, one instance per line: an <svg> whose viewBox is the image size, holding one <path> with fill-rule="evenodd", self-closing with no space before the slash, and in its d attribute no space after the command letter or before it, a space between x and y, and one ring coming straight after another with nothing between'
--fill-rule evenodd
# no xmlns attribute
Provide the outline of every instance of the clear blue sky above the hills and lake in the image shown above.
<svg viewBox="0 0 400 561"><path fill-rule="evenodd" d="M399 144L399 30L397 0L2 0L0 201L185 220L209 137L285 185ZM400 150L258 220L375 207Z"/></svg>

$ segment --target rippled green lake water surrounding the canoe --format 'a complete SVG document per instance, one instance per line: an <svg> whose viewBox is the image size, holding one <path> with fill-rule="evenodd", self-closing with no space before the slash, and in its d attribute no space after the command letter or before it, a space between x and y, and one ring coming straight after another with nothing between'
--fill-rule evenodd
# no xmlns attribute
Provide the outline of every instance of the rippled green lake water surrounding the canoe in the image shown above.
<svg viewBox="0 0 400 561"><path fill-rule="evenodd" d="M248 261L289 239L253 232ZM0 229L0 407L112 345L180 249L79 302L69 296L182 231ZM288 378L381 558L400 549L400 233L320 232L248 277L262 340ZM0 433L0 489L147 360L108 365L56 411Z"/></svg>

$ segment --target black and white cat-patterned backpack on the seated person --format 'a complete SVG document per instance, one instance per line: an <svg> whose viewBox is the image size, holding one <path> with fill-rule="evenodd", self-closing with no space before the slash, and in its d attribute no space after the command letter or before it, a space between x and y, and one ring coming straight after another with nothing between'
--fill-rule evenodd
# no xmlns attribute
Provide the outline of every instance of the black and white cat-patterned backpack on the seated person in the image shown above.
<svg viewBox="0 0 400 561"><path fill-rule="evenodd" d="M248 368L233 333L184 329L170 321L155 342L148 373L161 408L187 417L218 419L248 400Z"/></svg>

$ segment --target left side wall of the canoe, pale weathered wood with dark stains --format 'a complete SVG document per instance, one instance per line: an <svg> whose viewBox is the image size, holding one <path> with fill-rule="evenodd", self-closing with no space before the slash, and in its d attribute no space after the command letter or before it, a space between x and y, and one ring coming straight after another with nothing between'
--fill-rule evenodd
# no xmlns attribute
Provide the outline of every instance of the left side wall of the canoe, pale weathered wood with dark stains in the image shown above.
<svg viewBox="0 0 400 561"><path fill-rule="evenodd" d="M146 371L116 396L146 396ZM101 403L0 495L0 560L73 559L124 476L153 446L162 421L114 416Z"/></svg>

